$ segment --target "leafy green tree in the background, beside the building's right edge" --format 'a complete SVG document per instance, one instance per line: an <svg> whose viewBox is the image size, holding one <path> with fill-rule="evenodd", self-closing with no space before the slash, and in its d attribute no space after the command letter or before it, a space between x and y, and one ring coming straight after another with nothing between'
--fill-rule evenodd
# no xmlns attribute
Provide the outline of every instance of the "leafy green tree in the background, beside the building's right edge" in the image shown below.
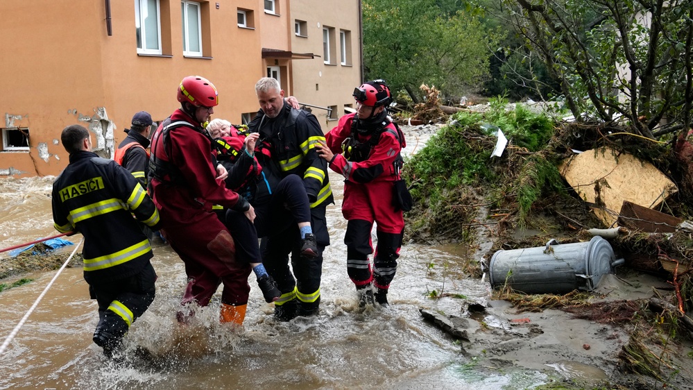
<svg viewBox="0 0 693 390"><path fill-rule="evenodd" d="M364 0L366 78L384 78L415 103L422 84L435 85L445 96L481 85L490 49L502 34L462 6L452 0Z"/></svg>

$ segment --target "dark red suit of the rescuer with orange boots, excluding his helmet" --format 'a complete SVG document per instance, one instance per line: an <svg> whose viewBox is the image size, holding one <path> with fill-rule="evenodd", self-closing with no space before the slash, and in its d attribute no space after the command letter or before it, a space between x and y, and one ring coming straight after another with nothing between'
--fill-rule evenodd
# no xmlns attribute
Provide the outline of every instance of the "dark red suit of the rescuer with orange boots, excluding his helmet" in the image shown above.
<svg viewBox="0 0 693 390"><path fill-rule="evenodd" d="M234 240L212 205L236 209L247 201L216 179L211 139L194 119L178 109L167 123L153 137L150 182L164 237L185 262L182 304L206 306L223 284L222 303L246 305L250 265L237 262Z"/></svg>

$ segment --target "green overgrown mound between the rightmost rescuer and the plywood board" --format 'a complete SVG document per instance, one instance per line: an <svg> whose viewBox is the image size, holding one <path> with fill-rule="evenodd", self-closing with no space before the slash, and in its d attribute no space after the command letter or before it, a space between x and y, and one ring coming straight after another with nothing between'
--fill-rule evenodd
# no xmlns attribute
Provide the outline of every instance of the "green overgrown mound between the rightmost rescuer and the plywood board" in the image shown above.
<svg viewBox="0 0 693 390"><path fill-rule="evenodd" d="M424 241L451 236L453 241L468 241L469 226L477 217L474 205L504 207L500 199L508 196L514 196L524 224L532 205L543 195L563 191L555 162L543 151L554 132L553 120L522 105L508 111L505 99L492 99L490 105L490 112L483 115L457 112L450 124L404 164L404 176L414 183L415 208L408 214L409 223ZM508 161L506 151L502 160L491 159L496 143L490 136L493 128L501 128L514 145L533 153ZM479 187L490 194L483 201L476 195Z"/></svg>

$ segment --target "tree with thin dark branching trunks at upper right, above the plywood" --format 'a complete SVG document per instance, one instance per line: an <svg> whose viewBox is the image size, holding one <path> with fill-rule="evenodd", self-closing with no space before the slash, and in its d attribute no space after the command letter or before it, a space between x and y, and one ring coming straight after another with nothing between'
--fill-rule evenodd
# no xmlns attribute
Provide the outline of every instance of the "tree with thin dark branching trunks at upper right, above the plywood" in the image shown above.
<svg viewBox="0 0 693 390"><path fill-rule="evenodd" d="M690 0L499 0L576 118L656 137L690 126Z"/></svg>

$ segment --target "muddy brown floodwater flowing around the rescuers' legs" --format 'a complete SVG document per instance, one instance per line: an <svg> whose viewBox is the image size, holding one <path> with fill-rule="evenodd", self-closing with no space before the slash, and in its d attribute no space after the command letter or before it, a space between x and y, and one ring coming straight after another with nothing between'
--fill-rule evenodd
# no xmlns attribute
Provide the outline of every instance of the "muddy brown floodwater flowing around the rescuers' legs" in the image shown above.
<svg viewBox="0 0 693 390"><path fill-rule="evenodd" d="M0 248L55 234L51 179L0 180ZM488 282L460 278L459 247L403 246L391 306L359 310L346 273L341 179L330 180L338 201L328 208L332 246L325 251L318 316L275 321L273 305L264 303L251 275L241 330L219 324L218 297L198 313L198 325L179 328L175 312L185 272L169 247L157 246L157 296L126 337L128 350L149 348L157 364L123 366L103 357L91 341L96 302L89 300L81 270L66 269L0 356L0 389L480 390L524 389L546 380L539 373L481 375L453 339L423 321L420 308L461 314L459 298L432 300L433 290L477 301L488 296ZM62 249L66 259L71 250ZM55 272L33 273L33 282L0 293L0 341Z"/></svg>

